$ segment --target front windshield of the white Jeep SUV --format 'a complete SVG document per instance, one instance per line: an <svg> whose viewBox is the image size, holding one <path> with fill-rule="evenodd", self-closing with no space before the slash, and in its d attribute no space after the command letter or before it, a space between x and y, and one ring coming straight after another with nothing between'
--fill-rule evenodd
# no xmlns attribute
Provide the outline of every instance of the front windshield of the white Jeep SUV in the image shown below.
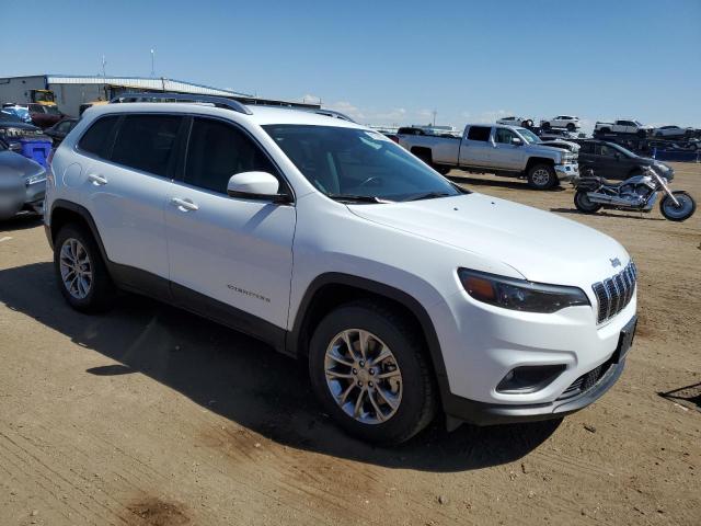
<svg viewBox="0 0 701 526"><path fill-rule="evenodd" d="M263 128L309 182L332 198L412 201L463 193L377 132L295 124Z"/></svg>

